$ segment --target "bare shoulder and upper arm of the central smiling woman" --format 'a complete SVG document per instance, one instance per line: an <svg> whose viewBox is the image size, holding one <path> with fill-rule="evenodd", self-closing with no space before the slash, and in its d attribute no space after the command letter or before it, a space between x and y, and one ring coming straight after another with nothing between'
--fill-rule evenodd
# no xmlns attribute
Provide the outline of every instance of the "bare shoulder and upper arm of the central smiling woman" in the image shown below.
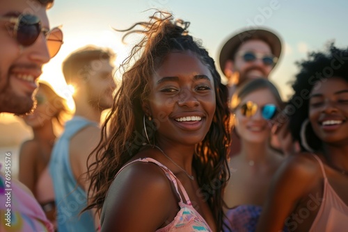
<svg viewBox="0 0 348 232"><path fill-rule="evenodd" d="M164 171L154 163L135 162L122 169L109 187L102 230L122 225L125 231L138 231L136 226L155 231L176 207L177 199ZM138 225L134 224L135 218Z"/></svg>

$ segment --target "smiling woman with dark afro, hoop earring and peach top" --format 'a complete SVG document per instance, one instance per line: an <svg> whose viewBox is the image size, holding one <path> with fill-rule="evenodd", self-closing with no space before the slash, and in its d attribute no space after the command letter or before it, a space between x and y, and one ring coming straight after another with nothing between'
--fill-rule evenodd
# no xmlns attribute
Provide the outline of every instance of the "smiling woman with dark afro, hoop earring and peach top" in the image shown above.
<svg viewBox="0 0 348 232"><path fill-rule="evenodd" d="M348 49L331 44L299 63L285 108L302 152L274 176L258 231L347 231Z"/></svg>

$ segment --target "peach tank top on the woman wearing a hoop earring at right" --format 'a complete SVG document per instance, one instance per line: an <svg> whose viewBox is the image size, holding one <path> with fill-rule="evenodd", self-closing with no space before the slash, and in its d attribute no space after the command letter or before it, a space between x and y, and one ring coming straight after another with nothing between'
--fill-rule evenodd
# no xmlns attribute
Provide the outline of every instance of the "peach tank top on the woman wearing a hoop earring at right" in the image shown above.
<svg viewBox="0 0 348 232"><path fill-rule="evenodd" d="M324 193L317 217L310 227L310 232L344 232L348 231L348 206L340 199L326 178L322 160L313 155L319 162L324 176Z"/></svg>

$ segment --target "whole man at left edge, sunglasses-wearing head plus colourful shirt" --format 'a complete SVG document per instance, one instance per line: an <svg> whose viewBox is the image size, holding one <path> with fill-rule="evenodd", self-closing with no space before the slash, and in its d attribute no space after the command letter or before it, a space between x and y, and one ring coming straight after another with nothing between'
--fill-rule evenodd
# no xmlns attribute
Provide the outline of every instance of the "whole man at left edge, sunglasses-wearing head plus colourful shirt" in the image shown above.
<svg viewBox="0 0 348 232"><path fill-rule="evenodd" d="M0 0L0 113L20 115L33 108L42 65L63 42L60 29L49 31L46 10L52 5L53 0ZM0 211L6 212L0 231L53 232L30 190L10 178L9 154L5 167L0 164Z"/></svg>

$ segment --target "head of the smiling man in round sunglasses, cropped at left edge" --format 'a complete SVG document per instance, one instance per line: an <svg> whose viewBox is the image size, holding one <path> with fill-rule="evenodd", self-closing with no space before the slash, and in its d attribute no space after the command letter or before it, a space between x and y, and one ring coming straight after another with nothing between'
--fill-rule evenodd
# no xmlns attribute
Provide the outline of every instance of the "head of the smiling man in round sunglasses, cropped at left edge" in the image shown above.
<svg viewBox="0 0 348 232"><path fill-rule="evenodd" d="M49 29L53 0L0 0L0 112L22 115L33 108L42 65L63 43L60 28Z"/></svg>

